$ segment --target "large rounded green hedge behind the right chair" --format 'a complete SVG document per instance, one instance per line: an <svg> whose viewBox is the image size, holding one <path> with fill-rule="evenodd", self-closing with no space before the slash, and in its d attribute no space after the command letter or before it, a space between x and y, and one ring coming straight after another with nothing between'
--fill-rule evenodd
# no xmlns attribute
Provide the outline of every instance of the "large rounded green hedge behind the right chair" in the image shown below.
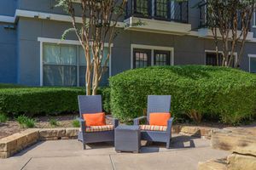
<svg viewBox="0 0 256 170"><path fill-rule="evenodd" d="M111 77L110 87L113 115L123 121L143 115L148 94L171 94L176 117L195 110L235 124L256 115L256 76L230 68L148 67Z"/></svg>

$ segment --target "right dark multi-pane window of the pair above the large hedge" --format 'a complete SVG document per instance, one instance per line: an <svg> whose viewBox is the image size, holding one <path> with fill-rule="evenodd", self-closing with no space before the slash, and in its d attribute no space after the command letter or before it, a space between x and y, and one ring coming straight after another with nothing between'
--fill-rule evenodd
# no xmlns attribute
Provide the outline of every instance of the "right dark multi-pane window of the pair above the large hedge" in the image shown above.
<svg viewBox="0 0 256 170"><path fill-rule="evenodd" d="M170 51L154 50L154 65L170 65Z"/></svg>

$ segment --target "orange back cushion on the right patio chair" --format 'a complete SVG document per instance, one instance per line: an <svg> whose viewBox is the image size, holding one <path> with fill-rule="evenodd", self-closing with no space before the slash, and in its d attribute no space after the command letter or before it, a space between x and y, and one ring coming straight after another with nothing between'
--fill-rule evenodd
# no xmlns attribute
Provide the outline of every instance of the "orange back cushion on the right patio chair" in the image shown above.
<svg viewBox="0 0 256 170"><path fill-rule="evenodd" d="M167 122L170 118L170 113L150 113L149 125L167 126Z"/></svg>

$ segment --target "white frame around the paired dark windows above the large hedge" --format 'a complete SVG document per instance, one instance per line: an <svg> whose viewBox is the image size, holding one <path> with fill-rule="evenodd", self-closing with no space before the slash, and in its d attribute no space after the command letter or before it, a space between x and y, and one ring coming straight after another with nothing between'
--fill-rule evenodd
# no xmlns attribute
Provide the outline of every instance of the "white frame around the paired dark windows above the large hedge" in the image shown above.
<svg viewBox="0 0 256 170"><path fill-rule="evenodd" d="M174 65L174 48L172 47L162 47L162 46L151 46L151 45L141 45L141 44L131 44L131 69L133 67L133 49L140 48L140 49L150 49L151 50L151 66L154 66L154 50L160 51L169 51L171 57L171 65Z"/></svg>

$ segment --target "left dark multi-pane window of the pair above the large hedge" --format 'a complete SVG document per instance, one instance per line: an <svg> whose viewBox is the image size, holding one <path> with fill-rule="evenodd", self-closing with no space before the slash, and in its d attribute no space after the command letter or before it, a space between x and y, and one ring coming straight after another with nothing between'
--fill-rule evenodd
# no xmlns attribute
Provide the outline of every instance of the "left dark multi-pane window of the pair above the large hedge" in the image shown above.
<svg viewBox="0 0 256 170"><path fill-rule="evenodd" d="M149 49L133 49L134 64L133 68L143 68L151 65L151 50Z"/></svg>

